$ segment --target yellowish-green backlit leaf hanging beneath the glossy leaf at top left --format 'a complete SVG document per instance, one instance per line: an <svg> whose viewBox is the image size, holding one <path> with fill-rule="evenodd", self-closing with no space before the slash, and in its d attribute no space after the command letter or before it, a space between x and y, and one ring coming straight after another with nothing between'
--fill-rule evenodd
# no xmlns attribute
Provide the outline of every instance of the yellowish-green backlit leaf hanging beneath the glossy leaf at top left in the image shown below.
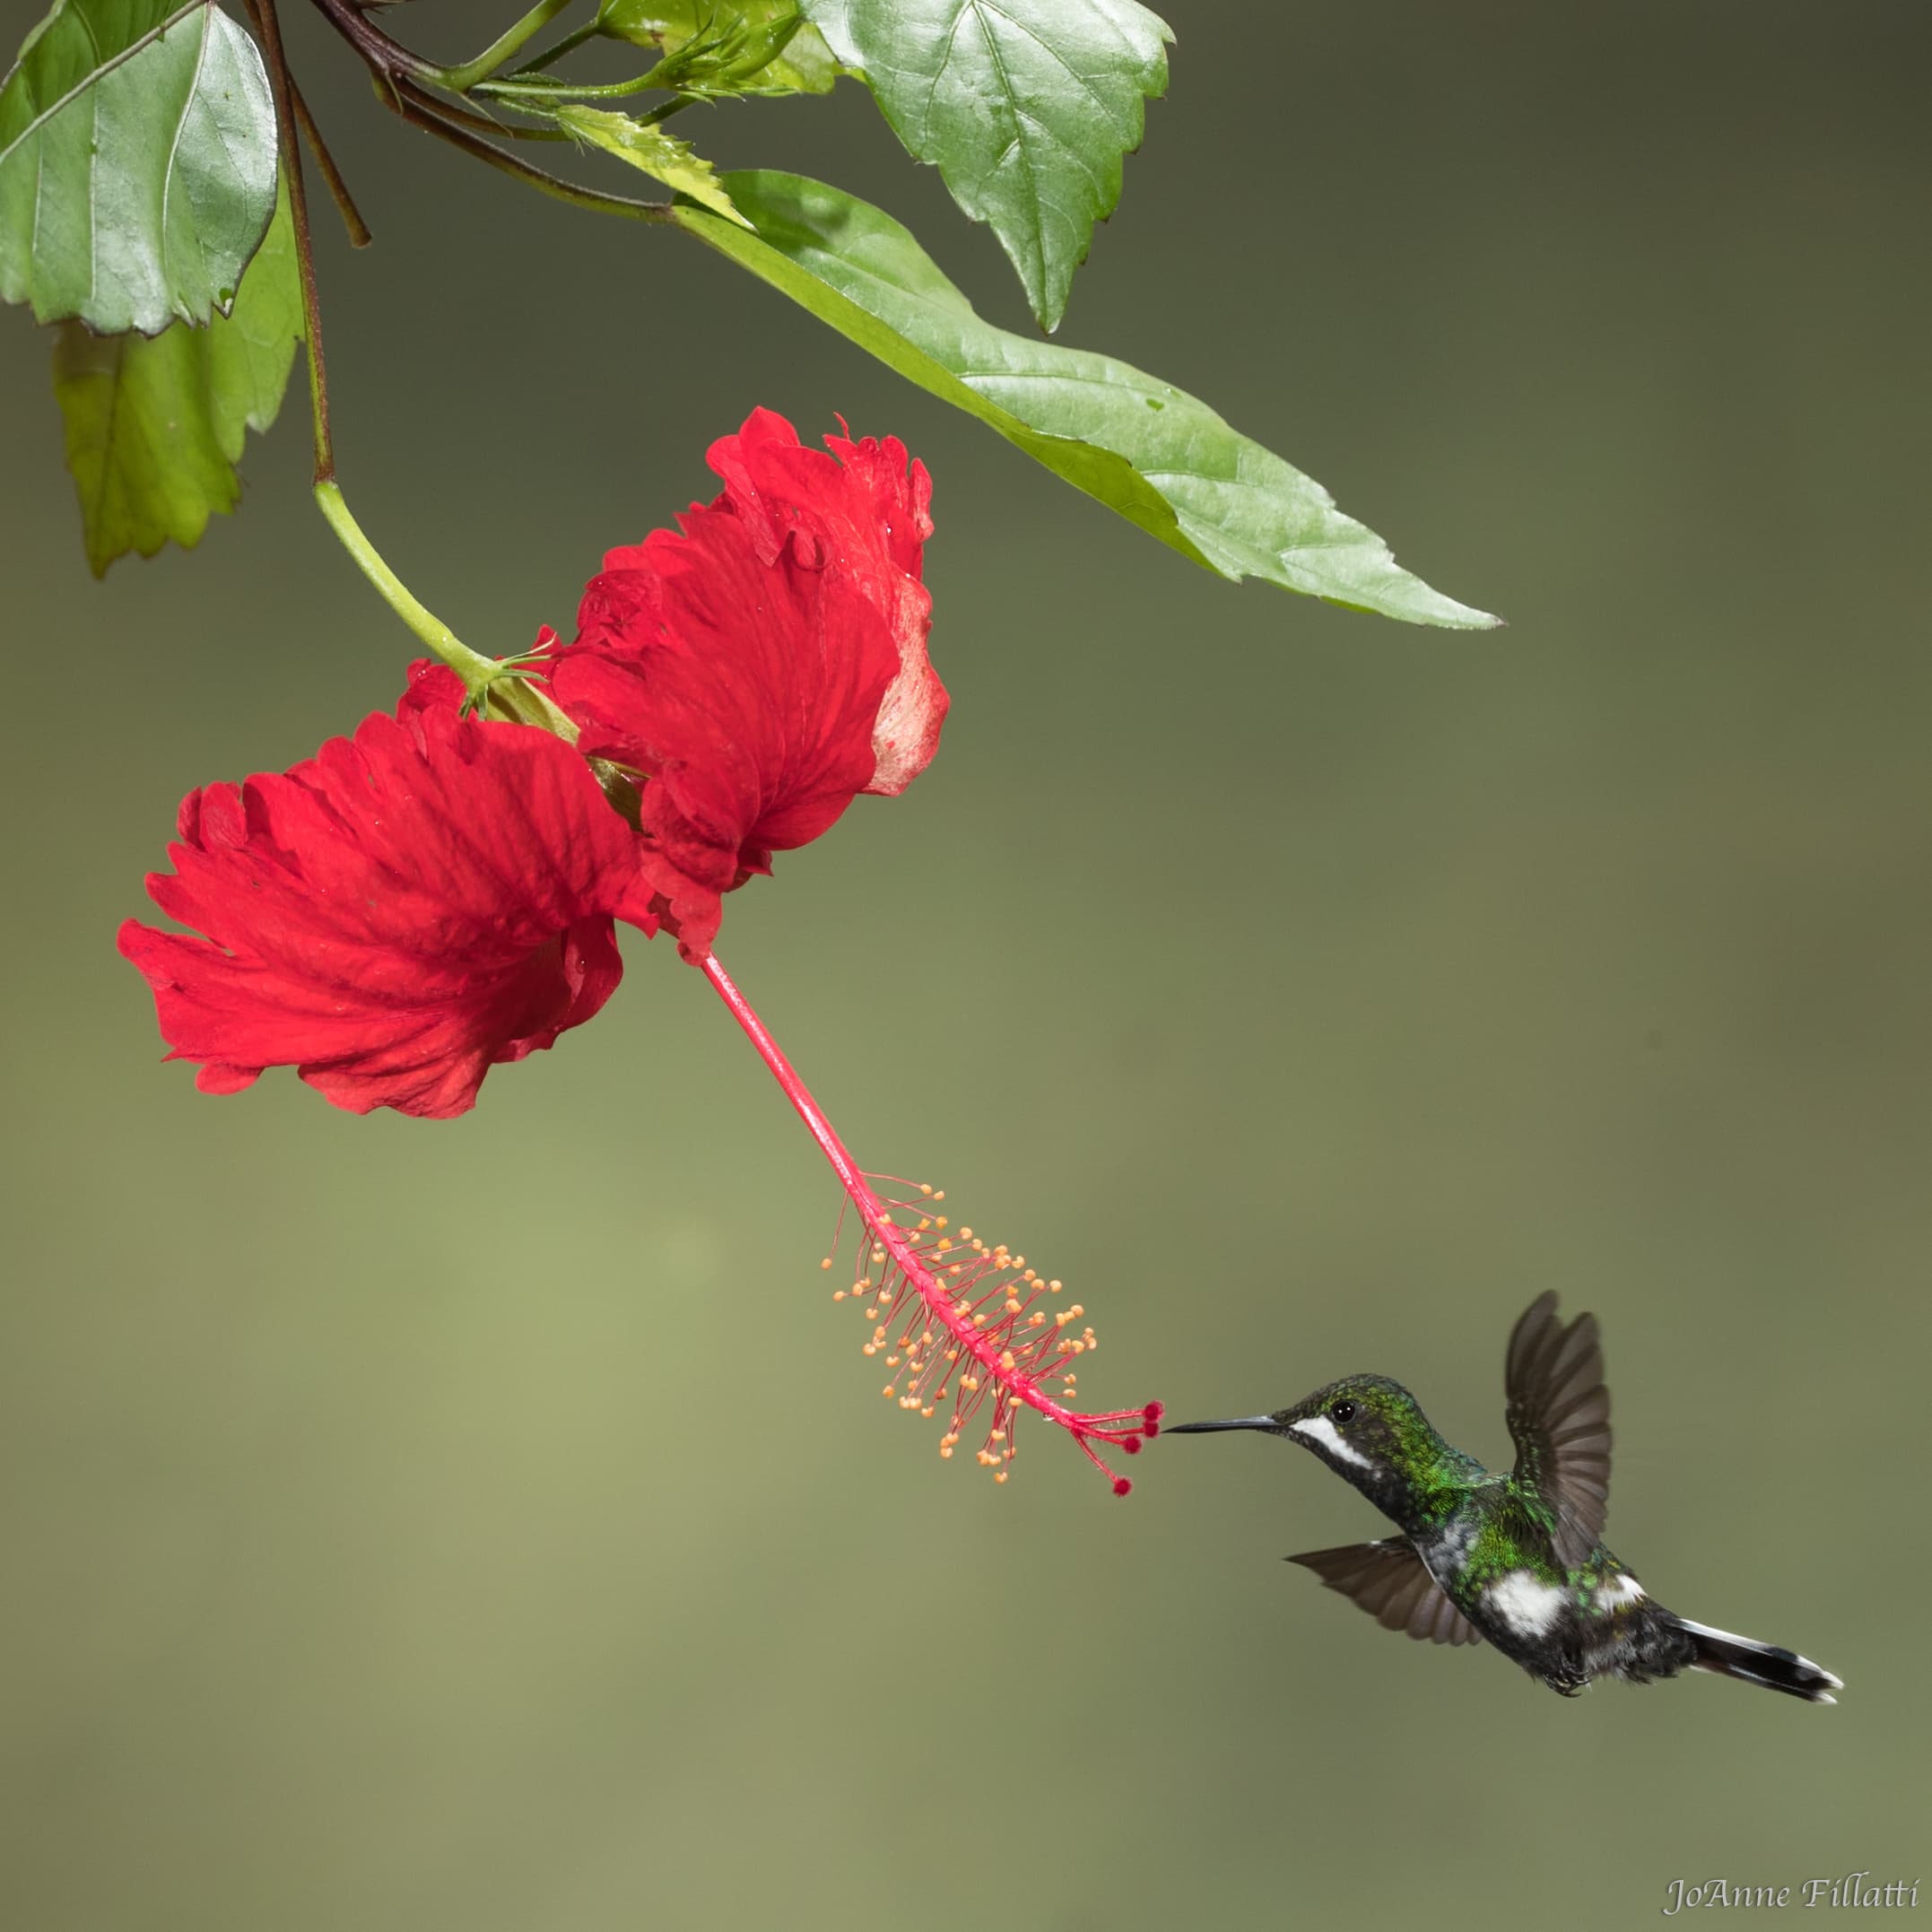
<svg viewBox="0 0 1932 1932"><path fill-rule="evenodd" d="M286 193L232 313L207 328L95 336L62 323L54 398L97 578L128 551L153 556L168 539L191 551L209 512L236 506L243 433L274 421L301 332Z"/></svg>

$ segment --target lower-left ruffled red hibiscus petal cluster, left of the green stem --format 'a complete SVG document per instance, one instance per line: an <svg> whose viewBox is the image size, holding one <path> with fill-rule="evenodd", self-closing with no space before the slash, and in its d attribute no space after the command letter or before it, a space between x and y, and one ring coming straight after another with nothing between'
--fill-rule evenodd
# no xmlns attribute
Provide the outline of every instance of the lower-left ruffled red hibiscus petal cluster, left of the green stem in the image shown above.
<svg viewBox="0 0 1932 1932"><path fill-rule="evenodd" d="M205 939L129 920L170 1059L234 1094L296 1066L338 1107L446 1119L485 1072L591 1018L612 920L655 931L639 844L560 738L456 715L448 672L290 773L182 800L149 895Z"/></svg>

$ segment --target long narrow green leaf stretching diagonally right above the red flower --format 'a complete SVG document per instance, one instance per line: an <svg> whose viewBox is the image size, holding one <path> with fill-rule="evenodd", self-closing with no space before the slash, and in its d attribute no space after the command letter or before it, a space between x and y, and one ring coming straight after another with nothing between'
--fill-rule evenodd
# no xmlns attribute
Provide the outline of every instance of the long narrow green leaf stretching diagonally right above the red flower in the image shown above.
<svg viewBox="0 0 1932 1932"><path fill-rule="evenodd" d="M869 203L796 174L723 180L755 234L690 203L678 222L1182 556L1410 624L1497 622L1410 576L1320 483L1184 390L983 323Z"/></svg>

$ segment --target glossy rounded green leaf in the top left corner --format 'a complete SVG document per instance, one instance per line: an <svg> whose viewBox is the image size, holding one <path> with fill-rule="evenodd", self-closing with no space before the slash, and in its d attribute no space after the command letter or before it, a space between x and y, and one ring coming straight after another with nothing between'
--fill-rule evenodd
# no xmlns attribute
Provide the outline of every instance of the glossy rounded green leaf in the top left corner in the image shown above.
<svg viewBox="0 0 1932 1932"><path fill-rule="evenodd" d="M274 102L213 0L54 0L0 83L0 298L158 336L226 311L274 213Z"/></svg>

